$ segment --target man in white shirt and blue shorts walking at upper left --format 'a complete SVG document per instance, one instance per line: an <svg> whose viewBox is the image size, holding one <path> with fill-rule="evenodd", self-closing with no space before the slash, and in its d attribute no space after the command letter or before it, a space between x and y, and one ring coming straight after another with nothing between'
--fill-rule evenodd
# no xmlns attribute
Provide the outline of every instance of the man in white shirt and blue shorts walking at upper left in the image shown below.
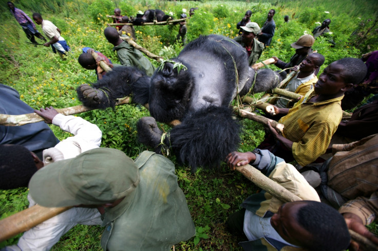
<svg viewBox="0 0 378 251"><path fill-rule="evenodd" d="M52 51L54 53L58 51L59 56L65 60L63 55L66 55L66 51L69 51L70 48L66 40L61 36L61 30L49 20L44 20L40 13L33 13L33 19L37 25L42 26L43 32L50 39L44 46L49 47L51 45Z"/></svg>

